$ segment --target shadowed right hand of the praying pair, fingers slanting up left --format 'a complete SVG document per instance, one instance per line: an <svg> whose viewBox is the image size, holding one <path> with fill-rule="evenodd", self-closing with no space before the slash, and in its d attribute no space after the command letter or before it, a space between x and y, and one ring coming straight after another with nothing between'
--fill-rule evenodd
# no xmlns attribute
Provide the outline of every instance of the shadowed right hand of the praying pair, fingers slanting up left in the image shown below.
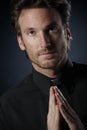
<svg viewBox="0 0 87 130"><path fill-rule="evenodd" d="M67 122L70 130L85 130L80 118L78 117L76 112L71 108L69 103L66 101L65 97L60 92L60 90L57 87L55 87L54 90L55 97L58 102L58 111L60 111L62 117Z"/></svg>

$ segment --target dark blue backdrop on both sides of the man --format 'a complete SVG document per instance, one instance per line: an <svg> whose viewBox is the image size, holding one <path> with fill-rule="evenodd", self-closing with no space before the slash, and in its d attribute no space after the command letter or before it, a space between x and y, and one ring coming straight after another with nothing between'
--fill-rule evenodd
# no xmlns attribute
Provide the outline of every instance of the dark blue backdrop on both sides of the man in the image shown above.
<svg viewBox="0 0 87 130"><path fill-rule="evenodd" d="M0 0L0 93L16 85L31 72L31 63L20 51L9 15L9 1ZM72 0L70 19L73 41L70 57L87 64L87 4Z"/></svg>

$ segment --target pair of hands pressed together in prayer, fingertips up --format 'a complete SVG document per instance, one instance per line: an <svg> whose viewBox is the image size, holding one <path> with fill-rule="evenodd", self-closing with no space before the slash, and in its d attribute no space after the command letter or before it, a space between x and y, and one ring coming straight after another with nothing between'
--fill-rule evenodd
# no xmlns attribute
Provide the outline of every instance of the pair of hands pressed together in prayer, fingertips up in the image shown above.
<svg viewBox="0 0 87 130"><path fill-rule="evenodd" d="M67 122L70 130L85 130L78 115L56 86L50 88L49 112L47 117L48 130L62 130L61 117Z"/></svg>

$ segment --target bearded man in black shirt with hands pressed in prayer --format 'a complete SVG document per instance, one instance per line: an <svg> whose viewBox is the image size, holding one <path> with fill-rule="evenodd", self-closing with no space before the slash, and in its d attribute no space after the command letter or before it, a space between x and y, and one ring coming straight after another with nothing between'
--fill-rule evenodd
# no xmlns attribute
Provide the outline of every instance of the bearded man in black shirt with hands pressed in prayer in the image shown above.
<svg viewBox="0 0 87 130"><path fill-rule="evenodd" d="M67 0L13 0L12 24L32 74L0 99L0 130L86 130L87 66L68 57Z"/></svg>

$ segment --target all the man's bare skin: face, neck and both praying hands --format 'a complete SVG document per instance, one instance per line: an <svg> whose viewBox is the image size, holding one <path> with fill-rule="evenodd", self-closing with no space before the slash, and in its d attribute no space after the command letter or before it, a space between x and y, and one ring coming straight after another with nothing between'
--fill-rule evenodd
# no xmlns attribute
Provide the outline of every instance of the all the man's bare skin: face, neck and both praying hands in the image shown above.
<svg viewBox="0 0 87 130"><path fill-rule="evenodd" d="M57 77L68 58L71 36L69 26L62 23L55 9L47 8L22 10L18 23L21 30L21 35L17 36L19 47L27 52L34 69L50 78ZM79 117L66 102L59 91L51 87L48 130L61 130L61 117L70 130L84 130Z"/></svg>

